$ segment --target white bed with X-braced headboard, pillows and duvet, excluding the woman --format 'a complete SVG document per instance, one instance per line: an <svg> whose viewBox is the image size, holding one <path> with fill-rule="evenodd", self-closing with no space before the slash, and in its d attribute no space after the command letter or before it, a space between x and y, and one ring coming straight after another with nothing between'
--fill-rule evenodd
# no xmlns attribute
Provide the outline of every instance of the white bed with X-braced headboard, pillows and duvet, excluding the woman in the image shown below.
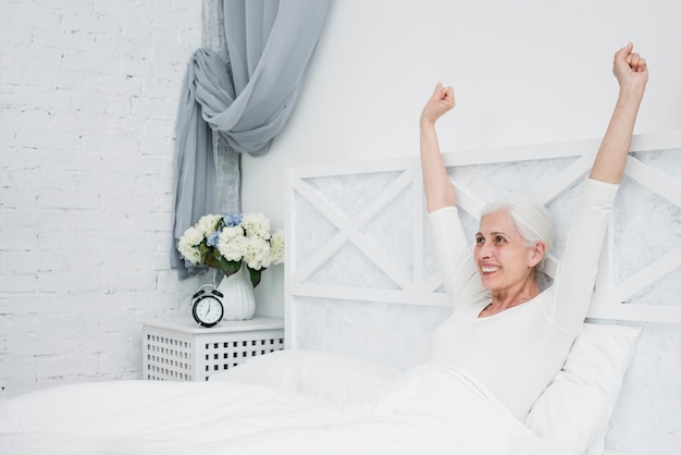
<svg viewBox="0 0 681 455"><path fill-rule="evenodd" d="M490 199L540 195L558 221L550 275L597 145L446 153L466 229ZM680 151L681 132L634 137L587 323L524 422L466 370L425 361L449 310L418 157L406 157L289 170L286 349L207 382L84 383L3 399L0 453L673 453Z"/></svg>

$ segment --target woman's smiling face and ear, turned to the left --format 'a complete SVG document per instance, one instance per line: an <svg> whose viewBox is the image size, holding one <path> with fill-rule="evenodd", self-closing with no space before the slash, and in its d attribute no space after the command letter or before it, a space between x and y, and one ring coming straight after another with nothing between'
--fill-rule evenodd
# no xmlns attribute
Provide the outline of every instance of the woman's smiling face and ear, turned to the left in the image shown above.
<svg viewBox="0 0 681 455"><path fill-rule="evenodd" d="M485 214L475 234L474 250L483 286L493 292L513 292L534 283L533 269L543 257L542 246L537 245L525 245L505 210Z"/></svg>

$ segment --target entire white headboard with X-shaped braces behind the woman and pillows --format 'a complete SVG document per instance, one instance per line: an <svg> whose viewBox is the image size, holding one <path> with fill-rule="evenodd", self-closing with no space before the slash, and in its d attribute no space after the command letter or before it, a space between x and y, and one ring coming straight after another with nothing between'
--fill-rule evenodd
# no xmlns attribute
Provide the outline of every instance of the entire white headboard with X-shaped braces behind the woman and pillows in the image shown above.
<svg viewBox="0 0 681 455"><path fill-rule="evenodd" d="M598 145L587 139L445 153L471 241L486 202L531 194L556 222L547 268L553 274ZM419 362L431 331L449 315L425 219L419 157L292 169L287 204L287 347L357 354L398 367ZM589 316L644 325L641 344L667 351L661 366L640 355L632 370L639 365L642 371L630 376L642 378L632 381L651 382L646 374L660 367L681 378L681 132L634 137ZM660 388L681 385L670 381L676 382ZM633 388L637 393L640 384ZM664 393L646 384L647 392L651 388ZM649 397L642 393L641 399ZM622 413L634 413L622 406ZM645 425L632 430L630 417L619 423L622 433L653 431Z"/></svg>

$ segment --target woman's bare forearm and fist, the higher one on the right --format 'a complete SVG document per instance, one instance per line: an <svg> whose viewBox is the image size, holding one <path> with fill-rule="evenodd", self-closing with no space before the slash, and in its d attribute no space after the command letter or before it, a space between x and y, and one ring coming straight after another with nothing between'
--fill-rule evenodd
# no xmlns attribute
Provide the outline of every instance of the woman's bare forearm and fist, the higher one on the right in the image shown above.
<svg viewBox="0 0 681 455"><path fill-rule="evenodd" d="M620 86L619 96L590 174L593 180L619 183L624 173L634 123L648 81L645 59L632 50L630 42L615 53L612 73Z"/></svg>

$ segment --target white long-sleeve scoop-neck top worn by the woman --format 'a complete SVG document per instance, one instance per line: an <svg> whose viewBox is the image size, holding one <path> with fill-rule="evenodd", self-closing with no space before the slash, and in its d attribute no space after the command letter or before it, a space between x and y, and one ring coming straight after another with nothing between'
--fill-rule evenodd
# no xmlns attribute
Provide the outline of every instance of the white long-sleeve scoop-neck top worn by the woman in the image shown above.
<svg viewBox="0 0 681 455"><path fill-rule="evenodd" d="M439 270L454 307L433 334L431 360L468 369L523 421L582 330L618 187L589 179L552 286L485 318L479 315L492 295L481 284L457 208L431 212Z"/></svg>

